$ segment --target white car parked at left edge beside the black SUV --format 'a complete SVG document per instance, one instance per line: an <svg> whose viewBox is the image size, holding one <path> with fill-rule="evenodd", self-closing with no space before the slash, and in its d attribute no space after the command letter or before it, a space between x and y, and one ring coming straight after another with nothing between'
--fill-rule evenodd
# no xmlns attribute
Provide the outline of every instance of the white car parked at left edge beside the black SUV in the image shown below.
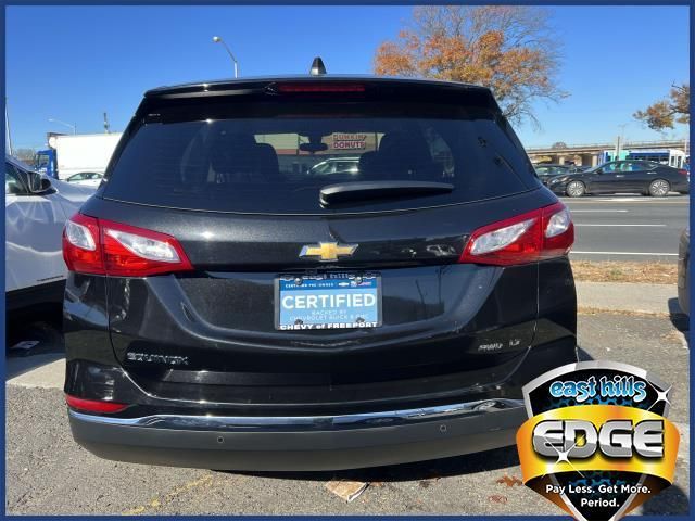
<svg viewBox="0 0 695 521"><path fill-rule="evenodd" d="M4 168L7 312L60 304L67 276L63 226L94 189L49 179L10 156Z"/></svg>

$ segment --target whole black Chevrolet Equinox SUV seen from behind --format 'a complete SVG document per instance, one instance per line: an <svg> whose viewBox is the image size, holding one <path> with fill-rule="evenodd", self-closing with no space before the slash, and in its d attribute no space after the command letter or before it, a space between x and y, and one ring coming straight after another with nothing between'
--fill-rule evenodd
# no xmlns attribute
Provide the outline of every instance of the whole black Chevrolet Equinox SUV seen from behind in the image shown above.
<svg viewBox="0 0 695 521"><path fill-rule="evenodd" d="M312 175L344 136L358 173ZM577 360L572 241L485 88L151 90L65 227L73 435L237 470L514 444L521 386Z"/></svg>

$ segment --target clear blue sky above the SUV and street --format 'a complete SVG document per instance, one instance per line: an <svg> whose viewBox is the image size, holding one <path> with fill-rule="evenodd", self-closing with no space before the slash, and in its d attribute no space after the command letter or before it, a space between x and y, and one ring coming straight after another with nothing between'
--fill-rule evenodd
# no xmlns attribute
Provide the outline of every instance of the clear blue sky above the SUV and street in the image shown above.
<svg viewBox="0 0 695 521"><path fill-rule="evenodd" d="M516 125L526 147L683 138L632 117L690 77L687 7L547 8L560 42L559 87L539 102L541 129ZM8 7L5 94L14 148L42 148L46 132L121 131L153 87L241 76L304 74L320 55L328 73L370 74L380 42L409 7ZM30 35L30 36L28 36ZM621 127L621 125L624 125Z"/></svg>

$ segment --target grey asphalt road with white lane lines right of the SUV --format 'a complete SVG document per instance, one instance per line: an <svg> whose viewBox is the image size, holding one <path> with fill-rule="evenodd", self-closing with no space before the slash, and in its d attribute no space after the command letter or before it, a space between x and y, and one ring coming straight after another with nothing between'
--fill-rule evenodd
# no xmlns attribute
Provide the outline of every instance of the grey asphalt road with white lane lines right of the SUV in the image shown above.
<svg viewBox="0 0 695 521"><path fill-rule="evenodd" d="M678 260L681 231L688 226L690 196L642 195L561 198L572 213L580 260Z"/></svg>

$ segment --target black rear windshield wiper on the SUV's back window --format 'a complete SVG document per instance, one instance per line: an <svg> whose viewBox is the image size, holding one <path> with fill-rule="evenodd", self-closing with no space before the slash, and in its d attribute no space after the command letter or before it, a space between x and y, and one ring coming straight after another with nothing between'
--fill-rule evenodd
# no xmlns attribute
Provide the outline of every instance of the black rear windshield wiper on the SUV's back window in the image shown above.
<svg viewBox="0 0 695 521"><path fill-rule="evenodd" d="M319 199L321 204L328 205L368 199L435 195L438 193L448 193L453 190L454 186L447 182L359 181L328 185L321 188Z"/></svg>

